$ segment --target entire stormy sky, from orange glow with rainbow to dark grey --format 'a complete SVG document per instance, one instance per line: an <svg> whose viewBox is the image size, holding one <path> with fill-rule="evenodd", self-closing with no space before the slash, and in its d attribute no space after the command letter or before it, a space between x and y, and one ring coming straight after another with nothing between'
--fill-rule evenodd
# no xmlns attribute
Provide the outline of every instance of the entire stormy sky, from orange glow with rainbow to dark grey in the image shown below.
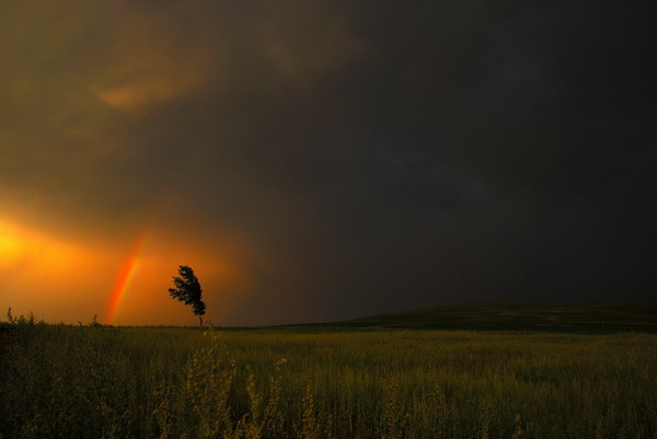
<svg viewBox="0 0 657 439"><path fill-rule="evenodd" d="M649 2L0 3L0 314L656 298Z"/></svg>

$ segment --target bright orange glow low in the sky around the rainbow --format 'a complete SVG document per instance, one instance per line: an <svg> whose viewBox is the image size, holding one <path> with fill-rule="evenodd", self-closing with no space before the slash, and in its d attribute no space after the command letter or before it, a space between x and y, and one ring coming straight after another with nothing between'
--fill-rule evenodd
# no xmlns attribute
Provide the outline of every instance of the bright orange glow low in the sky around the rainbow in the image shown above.
<svg viewBox="0 0 657 439"><path fill-rule="evenodd" d="M188 307L166 291L178 265L195 268L208 316L224 322L242 281L226 254L181 244L150 226L126 246L76 242L0 219L0 312L11 307L14 315L34 312L51 323L89 323L97 314L104 324L195 324Z"/></svg>

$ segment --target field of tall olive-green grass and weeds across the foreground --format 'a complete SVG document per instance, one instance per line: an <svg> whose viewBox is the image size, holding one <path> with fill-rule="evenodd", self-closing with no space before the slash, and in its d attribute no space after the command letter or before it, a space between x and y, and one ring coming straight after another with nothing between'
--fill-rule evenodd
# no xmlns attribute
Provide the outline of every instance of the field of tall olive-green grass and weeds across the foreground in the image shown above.
<svg viewBox="0 0 657 439"><path fill-rule="evenodd" d="M2 438L656 438L657 336L11 325Z"/></svg>

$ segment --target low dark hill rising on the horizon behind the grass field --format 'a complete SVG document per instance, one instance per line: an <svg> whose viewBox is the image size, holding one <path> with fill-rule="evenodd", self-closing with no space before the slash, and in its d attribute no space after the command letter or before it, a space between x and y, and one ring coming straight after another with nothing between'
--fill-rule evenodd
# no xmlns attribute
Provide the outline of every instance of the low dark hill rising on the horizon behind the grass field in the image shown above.
<svg viewBox="0 0 657 439"><path fill-rule="evenodd" d="M371 315L348 326L436 330L657 333L657 301L589 304L476 302Z"/></svg>

